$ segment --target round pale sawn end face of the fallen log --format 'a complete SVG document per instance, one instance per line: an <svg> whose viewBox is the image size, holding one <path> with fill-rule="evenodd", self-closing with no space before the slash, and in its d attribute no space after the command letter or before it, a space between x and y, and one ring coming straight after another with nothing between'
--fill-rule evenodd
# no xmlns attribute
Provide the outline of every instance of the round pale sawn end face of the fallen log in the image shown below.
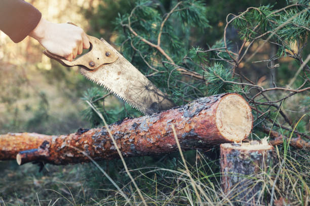
<svg viewBox="0 0 310 206"><path fill-rule="evenodd" d="M221 99L216 111L216 126L229 141L242 141L249 136L253 125L251 108L239 94Z"/></svg>

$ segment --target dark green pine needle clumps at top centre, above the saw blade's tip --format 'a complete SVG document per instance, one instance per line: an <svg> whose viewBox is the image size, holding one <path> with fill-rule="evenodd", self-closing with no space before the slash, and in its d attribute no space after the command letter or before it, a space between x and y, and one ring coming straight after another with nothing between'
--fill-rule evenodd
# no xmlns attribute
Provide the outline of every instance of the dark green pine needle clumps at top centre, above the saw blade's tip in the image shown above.
<svg viewBox="0 0 310 206"><path fill-rule="evenodd" d="M175 4L171 7L174 6ZM162 33L160 44L163 49L172 56L171 58L174 61L182 61L181 58L186 55L190 48L188 41L190 30L209 27L207 10L201 1L184 1L184 3L179 4L161 31L161 24L166 15L161 13L159 5L152 4L149 1L138 1L130 14L120 15L116 22L116 30L121 34L118 42L123 46L124 56L130 59L134 58L132 55L135 50L131 46L133 44L142 56L149 54L147 56L151 56L151 59L159 59L160 54L153 55L157 49L145 45L141 42L141 37L156 44L158 43L159 33ZM124 28L124 25L129 26L129 24L139 34L139 37L133 36L128 27ZM128 41L124 42L127 39ZM123 42L124 44L122 44Z"/></svg>

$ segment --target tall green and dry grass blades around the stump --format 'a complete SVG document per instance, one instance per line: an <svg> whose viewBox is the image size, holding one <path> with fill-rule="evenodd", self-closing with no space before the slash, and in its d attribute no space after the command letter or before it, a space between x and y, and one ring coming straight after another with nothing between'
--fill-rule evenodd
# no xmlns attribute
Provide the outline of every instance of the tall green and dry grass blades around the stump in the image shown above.
<svg viewBox="0 0 310 206"><path fill-rule="evenodd" d="M276 146L275 150L274 167L269 170L261 168L258 174L244 177L244 182L255 179L252 185L248 185L249 190L255 184L262 185L255 205L274 205L279 201L283 201L283 205L308 205L309 154L294 149L285 153L287 150L284 146ZM128 162L130 164L131 161ZM166 168L141 167L128 172L141 191L144 202L137 194L133 181L128 178L127 171L120 171L118 175L121 179L127 179L121 190L128 199L117 190L107 190L106 195L92 198L87 205L238 205L249 201L235 198L240 192L238 185L230 194L223 192L217 160L208 160L200 151L183 153L180 150L180 157L170 160ZM117 184L121 185L121 182ZM67 203L73 205L72 200ZM82 205L86 204L82 201Z"/></svg>

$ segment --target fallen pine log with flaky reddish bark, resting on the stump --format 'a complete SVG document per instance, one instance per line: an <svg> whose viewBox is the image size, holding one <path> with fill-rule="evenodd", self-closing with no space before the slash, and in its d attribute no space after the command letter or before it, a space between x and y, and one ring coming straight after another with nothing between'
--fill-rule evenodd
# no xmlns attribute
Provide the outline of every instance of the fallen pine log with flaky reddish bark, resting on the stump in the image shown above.
<svg viewBox="0 0 310 206"><path fill-rule="evenodd" d="M182 149L187 150L241 141L250 134L253 119L251 109L241 95L225 93L199 98L151 116L127 118L109 125L109 129L124 157L149 156L177 150L172 124ZM21 148L10 143L7 146L7 142L20 141L24 136L42 142L38 145L39 140L29 140L35 143ZM0 160L13 159L17 155L20 165L32 161L56 165L89 162L89 158L79 150L94 160L119 157L105 127L59 136L0 135L0 145ZM29 150L23 151L25 147Z"/></svg>

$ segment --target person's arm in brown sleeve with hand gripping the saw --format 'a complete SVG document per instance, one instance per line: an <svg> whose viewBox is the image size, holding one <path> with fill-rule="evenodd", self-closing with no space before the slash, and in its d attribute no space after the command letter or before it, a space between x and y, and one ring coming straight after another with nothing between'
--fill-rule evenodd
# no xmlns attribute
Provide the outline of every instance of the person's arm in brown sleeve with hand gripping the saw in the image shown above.
<svg viewBox="0 0 310 206"><path fill-rule="evenodd" d="M49 22L42 18L40 11L23 0L0 0L0 30L15 43L29 35L49 52L69 61L90 46L83 29Z"/></svg>

